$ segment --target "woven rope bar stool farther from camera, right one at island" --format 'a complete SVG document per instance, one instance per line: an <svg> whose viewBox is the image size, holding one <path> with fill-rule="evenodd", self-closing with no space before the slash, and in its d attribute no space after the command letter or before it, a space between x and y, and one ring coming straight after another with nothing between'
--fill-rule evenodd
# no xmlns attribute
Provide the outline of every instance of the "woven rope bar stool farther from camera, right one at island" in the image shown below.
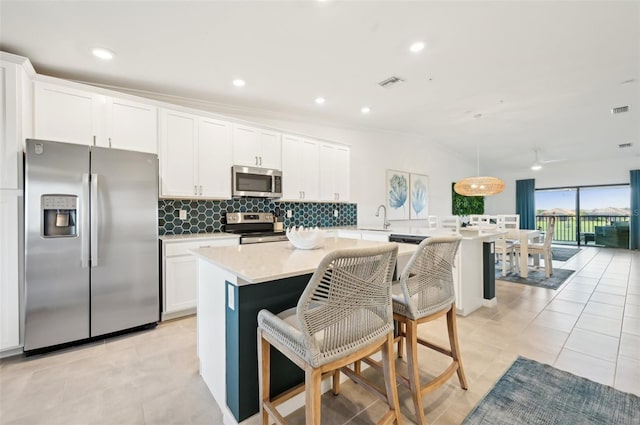
<svg viewBox="0 0 640 425"><path fill-rule="evenodd" d="M408 377L397 376L400 384L411 390L418 424L427 423L422 398L455 373L460 386L467 389L467 380L460 359L460 347L456 326L455 292L453 287L454 257L460 245L460 236L431 237L423 240L405 266L400 280L393 284L393 318L398 321L398 356L403 357L407 345ZM450 348L436 345L418 337L418 325L446 315ZM420 383L418 368L418 344L436 350L452 358L451 364L426 384ZM371 358L367 364L380 368ZM359 362L354 370L343 369L348 376L361 376Z"/></svg>

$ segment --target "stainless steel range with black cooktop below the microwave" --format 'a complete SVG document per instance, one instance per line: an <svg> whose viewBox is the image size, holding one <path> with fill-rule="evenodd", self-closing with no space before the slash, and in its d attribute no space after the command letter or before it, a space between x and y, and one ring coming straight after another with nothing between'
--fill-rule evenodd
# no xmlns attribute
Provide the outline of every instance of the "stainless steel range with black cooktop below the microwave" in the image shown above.
<svg viewBox="0 0 640 425"><path fill-rule="evenodd" d="M286 241L284 231L273 230L272 213L227 213L225 231L240 235L240 244Z"/></svg>

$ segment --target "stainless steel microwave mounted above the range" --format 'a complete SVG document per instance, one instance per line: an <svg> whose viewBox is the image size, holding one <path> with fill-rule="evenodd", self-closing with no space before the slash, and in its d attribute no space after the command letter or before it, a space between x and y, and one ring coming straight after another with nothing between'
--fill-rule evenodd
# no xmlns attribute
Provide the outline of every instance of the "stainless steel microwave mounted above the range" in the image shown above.
<svg viewBox="0 0 640 425"><path fill-rule="evenodd" d="M231 167L231 195L279 198L282 196L282 171L270 168Z"/></svg>

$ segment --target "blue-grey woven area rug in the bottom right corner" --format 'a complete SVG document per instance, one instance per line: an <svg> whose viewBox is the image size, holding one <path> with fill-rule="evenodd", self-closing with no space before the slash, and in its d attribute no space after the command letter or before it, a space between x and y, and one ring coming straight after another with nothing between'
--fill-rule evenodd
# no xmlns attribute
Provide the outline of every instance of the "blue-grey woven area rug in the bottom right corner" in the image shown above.
<svg viewBox="0 0 640 425"><path fill-rule="evenodd" d="M518 357L463 425L640 423L640 397Z"/></svg>

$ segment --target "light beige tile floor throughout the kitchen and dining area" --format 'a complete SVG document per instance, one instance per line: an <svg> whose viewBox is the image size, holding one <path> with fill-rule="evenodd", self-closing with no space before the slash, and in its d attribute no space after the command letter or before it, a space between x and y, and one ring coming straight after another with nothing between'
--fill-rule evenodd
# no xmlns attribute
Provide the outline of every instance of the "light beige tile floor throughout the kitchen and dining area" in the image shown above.
<svg viewBox="0 0 640 425"><path fill-rule="evenodd" d="M498 306L458 318L469 390L455 377L425 397L430 424L459 424L516 356L640 395L640 252L583 248L556 267L576 270L557 291L497 282ZM0 424L220 424L198 376L195 318L43 356L0 361ZM423 326L424 327L424 326ZM443 321L423 337L446 342ZM446 359L426 350L432 375ZM404 363L398 361L398 369ZM365 371L379 379L375 371ZM399 390L405 423L409 392ZM374 423L383 405L347 382L323 396L323 423ZM304 423L298 410L288 418Z"/></svg>

